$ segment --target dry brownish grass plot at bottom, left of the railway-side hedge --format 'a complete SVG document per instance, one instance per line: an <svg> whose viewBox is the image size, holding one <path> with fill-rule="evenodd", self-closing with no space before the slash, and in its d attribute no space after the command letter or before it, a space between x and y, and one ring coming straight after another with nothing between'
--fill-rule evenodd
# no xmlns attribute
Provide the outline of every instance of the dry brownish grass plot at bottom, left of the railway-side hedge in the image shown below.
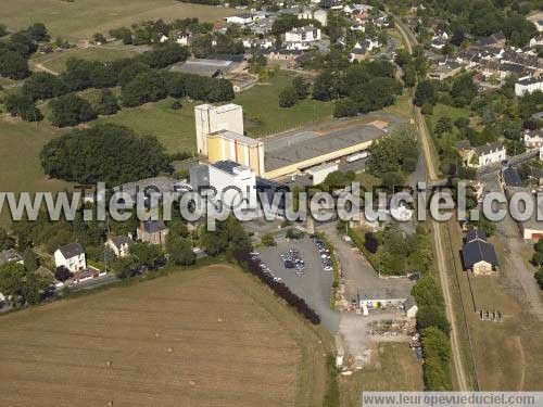
<svg viewBox="0 0 543 407"><path fill-rule="evenodd" d="M341 406L358 407L363 391L422 391L422 364L406 343L381 343L376 366L340 378Z"/></svg>

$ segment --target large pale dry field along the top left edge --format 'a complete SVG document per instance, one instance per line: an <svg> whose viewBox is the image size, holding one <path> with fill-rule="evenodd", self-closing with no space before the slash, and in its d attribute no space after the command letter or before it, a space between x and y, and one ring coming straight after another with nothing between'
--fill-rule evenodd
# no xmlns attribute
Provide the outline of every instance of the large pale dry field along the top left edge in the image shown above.
<svg viewBox="0 0 543 407"><path fill-rule="evenodd" d="M190 4L176 0L17 0L4 1L0 23L10 29L22 29L43 23L53 37L71 41L90 39L94 33L130 27L147 20L198 17L214 22L235 14L233 9Z"/></svg>

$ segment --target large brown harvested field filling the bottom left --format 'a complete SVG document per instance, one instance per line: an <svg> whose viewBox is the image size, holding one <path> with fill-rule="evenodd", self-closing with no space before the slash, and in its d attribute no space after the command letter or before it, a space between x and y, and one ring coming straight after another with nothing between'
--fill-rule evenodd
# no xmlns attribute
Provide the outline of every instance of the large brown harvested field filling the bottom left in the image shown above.
<svg viewBox="0 0 543 407"><path fill-rule="evenodd" d="M0 319L0 406L313 406L329 339L209 266Z"/></svg>

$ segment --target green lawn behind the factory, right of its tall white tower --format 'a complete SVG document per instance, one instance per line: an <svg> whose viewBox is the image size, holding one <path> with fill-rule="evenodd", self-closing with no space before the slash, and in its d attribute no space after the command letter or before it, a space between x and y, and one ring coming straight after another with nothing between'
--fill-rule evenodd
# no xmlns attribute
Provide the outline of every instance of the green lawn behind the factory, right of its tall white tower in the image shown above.
<svg viewBox="0 0 543 407"><path fill-rule="evenodd" d="M257 84L236 96L233 103L243 106L245 126L251 137L261 137L332 119L333 104L311 99L299 101L292 107L279 107L279 93L292 82L293 74L280 72L269 84Z"/></svg>

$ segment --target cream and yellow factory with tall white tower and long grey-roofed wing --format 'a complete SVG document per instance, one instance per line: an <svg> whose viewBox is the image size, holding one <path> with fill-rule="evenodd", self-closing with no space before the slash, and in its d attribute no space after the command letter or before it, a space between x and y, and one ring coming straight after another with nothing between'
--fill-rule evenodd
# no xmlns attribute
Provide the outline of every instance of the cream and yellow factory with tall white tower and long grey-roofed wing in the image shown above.
<svg viewBox="0 0 543 407"><path fill-rule="evenodd" d="M211 164L224 161L252 169L256 177L280 179L366 150L387 135L382 122L343 127L325 135L298 131L252 139L243 133L243 111L237 104L194 107L198 153Z"/></svg>

